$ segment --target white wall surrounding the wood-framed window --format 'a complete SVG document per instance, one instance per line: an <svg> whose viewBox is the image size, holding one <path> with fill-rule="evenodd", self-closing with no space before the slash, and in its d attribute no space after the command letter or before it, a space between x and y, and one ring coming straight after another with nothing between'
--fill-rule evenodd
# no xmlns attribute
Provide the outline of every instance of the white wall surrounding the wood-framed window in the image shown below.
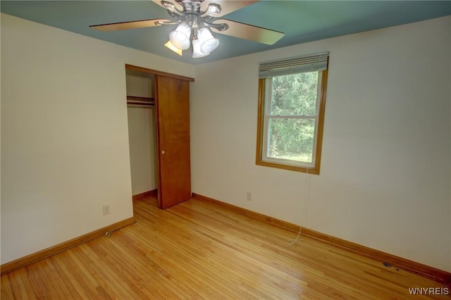
<svg viewBox="0 0 451 300"><path fill-rule="evenodd" d="M450 20L197 66L192 191L451 271ZM255 165L259 62L322 51L321 174Z"/></svg>

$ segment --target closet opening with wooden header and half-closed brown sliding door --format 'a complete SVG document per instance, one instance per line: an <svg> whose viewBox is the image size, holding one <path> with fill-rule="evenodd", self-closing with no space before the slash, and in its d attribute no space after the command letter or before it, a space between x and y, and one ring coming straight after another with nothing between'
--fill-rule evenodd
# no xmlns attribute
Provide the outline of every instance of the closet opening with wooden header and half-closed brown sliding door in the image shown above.
<svg viewBox="0 0 451 300"><path fill-rule="evenodd" d="M125 65L125 75L133 198L156 194L161 209L191 199L194 78L136 65Z"/></svg>

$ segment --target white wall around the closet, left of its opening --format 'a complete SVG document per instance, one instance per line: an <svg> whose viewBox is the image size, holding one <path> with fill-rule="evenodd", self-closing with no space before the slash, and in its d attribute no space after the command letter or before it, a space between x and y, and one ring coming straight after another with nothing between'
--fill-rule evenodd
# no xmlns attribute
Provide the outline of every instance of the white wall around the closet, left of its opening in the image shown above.
<svg viewBox="0 0 451 300"><path fill-rule="evenodd" d="M194 67L5 14L1 46L7 263L132 216L125 63Z"/></svg>

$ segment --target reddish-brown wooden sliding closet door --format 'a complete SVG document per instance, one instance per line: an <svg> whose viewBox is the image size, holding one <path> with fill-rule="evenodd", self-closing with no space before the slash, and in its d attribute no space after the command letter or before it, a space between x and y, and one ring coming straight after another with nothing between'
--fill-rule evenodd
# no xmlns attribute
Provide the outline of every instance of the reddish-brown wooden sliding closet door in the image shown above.
<svg viewBox="0 0 451 300"><path fill-rule="evenodd" d="M191 198L190 82L155 76L158 201L164 209Z"/></svg>

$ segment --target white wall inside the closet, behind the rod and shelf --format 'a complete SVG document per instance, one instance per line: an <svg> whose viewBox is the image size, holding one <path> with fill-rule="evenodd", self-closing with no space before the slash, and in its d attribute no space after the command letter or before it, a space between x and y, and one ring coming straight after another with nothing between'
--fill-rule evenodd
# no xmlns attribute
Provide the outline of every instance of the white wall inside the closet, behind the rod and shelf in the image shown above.
<svg viewBox="0 0 451 300"><path fill-rule="evenodd" d="M154 77L127 73L127 95L154 97ZM132 194L156 189L156 134L154 107L128 106L128 141Z"/></svg>

